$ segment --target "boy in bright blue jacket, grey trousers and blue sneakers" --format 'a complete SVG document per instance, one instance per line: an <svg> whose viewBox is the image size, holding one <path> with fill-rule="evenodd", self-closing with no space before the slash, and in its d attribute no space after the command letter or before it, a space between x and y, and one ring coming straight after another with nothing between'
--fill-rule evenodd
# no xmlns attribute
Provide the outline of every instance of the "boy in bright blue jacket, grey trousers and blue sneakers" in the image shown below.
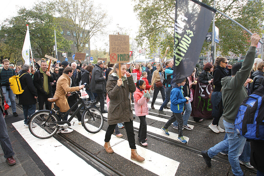
<svg viewBox="0 0 264 176"><path fill-rule="evenodd" d="M178 138L177 140L181 143L187 143L185 138L182 134L182 126L183 126L183 118L182 118L182 112L183 112L183 103L188 103L188 97L183 96L182 86L185 85L186 79L183 81L180 81L180 83L175 81L176 83L173 83L172 90L171 90L171 111L173 112L171 118L168 120L168 122L161 128L162 131L165 133L165 135L169 135L168 133L168 127L171 125L171 123L175 122L177 120L178 122Z"/></svg>

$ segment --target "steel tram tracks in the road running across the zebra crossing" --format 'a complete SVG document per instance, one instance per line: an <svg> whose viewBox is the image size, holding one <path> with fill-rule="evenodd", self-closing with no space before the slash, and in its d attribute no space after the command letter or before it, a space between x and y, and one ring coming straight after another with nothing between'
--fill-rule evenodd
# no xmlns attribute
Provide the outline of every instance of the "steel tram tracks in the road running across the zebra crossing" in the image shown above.
<svg viewBox="0 0 264 176"><path fill-rule="evenodd" d="M17 106L18 106L18 108L20 108L21 110L23 110L23 108L22 108L21 105L18 105L18 104L17 104ZM132 109L134 109L134 108L132 108ZM166 119L169 119L169 116L167 116L167 115L166 115L167 117L162 117L162 116L158 115L157 113L150 113L150 112L149 112L149 114L151 114L151 115L155 115L155 116L160 117L160 118L166 118ZM107 118L106 118L105 116L103 117L103 120L104 120L105 122L107 122ZM188 122L188 123L189 123L189 122ZM190 123L190 124L191 124L191 123ZM197 124L196 126L206 127L206 126L198 125L198 124ZM138 128L135 128L135 127L134 127L134 132L138 133L138 131L139 131ZM177 141L171 140L171 139L169 139L169 138L166 138L166 137L163 137L163 136L159 136L159 135L156 135L156 134L153 134L153 133L150 133L150 132L147 132L147 136L148 136L148 137L151 137L151 138L153 138L153 139L155 139L155 140L162 141L162 142L168 143L168 144L170 144L170 145L173 145L173 146L176 146L176 147L180 147L180 148L182 148L182 149L185 149L185 150L188 150L188 151L194 152L194 153L196 153L196 154L198 154L198 155L201 155L201 151L202 151L202 150L196 149L196 148L191 147L191 146L188 146L188 145L186 145L186 144L182 144L182 143L180 143L180 142L177 142ZM98 158L98 157L96 157L95 155L91 154L89 151L87 151L87 150L84 149L83 147L79 146L76 142L70 140L69 138L64 137L64 136L61 135L61 134L59 134L59 135L55 135L54 137L55 137L55 138L59 138L59 139L62 140L63 143L65 143L66 145L71 146L71 147L73 147L74 149L76 149L78 152L80 152L82 155L84 155L88 160L92 161L92 162L95 163L97 166L102 167L102 168L105 170L105 172L109 173L109 175L110 175L110 174L112 174L112 175L125 175L125 174L119 172L118 170L115 170L115 168L113 168L111 165L105 163L103 160L101 160L100 158ZM221 162L224 162L224 163L228 163L228 164L229 164L228 159L225 159L225 158L223 158L223 157L221 157L221 156L217 156L217 155L216 155L216 156L214 156L213 159L218 160L218 161L221 161ZM254 169L250 169L250 168L247 168L247 167L244 166L244 165L241 165L241 168L243 168L243 169L245 169L245 170L248 170L248 171L250 171L250 172L252 172L252 173L255 173L255 174L257 173L256 170L254 170Z"/></svg>

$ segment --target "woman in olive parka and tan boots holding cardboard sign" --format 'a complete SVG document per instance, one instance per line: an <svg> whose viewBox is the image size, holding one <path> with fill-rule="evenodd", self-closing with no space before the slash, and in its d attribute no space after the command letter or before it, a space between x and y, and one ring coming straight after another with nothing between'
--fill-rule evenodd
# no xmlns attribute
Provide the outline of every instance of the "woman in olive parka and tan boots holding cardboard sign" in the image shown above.
<svg viewBox="0 0 264 176"><path fill-rule="evenodd" d="M130 104L129 93L136 90L133 77L126 71L126 64L121 63L121 73L119 72L119 64L115 64L113 70L109 73L106 83L107 95L110 99L107 123L109 124L105 134L105 150L107 153L114 151L110 145L111 135L114 132L117 123L124 122L128 143L131 148L131 159L136 161L144 161L136 151L135 134L133 128L133 111ZM126 77L125 77L126 74ZM119 78L121 75L121 78Z"/></svg>

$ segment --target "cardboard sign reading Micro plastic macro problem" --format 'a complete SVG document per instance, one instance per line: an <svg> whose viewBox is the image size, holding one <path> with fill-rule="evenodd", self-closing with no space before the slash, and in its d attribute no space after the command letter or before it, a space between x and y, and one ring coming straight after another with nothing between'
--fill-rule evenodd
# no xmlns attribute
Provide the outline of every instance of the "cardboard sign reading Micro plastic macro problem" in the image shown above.
<svg viewBox="0 0 264 176"><path fill-rule="evenodd" d="M110 63L129 62L129 35L109 35Z"/></svg>

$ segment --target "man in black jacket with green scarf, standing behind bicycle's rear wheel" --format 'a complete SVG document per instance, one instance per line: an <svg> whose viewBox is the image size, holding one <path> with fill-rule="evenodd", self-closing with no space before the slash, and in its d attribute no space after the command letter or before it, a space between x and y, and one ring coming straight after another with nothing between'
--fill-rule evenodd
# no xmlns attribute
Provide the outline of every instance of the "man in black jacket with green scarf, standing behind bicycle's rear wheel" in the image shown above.
<svg viewBox="0 0 264 176"><path fill-rule="evenodd" d="M39 110L43 110L45 103L45 108L51 110L51 102L48 101L48 98L53 98L51 82L54 81L54 78L51 74L51 71L48 71L48 64L46 61L41 61L40 68L34 74L33 83L37 88L37 95L39 100Z"/></svg>

